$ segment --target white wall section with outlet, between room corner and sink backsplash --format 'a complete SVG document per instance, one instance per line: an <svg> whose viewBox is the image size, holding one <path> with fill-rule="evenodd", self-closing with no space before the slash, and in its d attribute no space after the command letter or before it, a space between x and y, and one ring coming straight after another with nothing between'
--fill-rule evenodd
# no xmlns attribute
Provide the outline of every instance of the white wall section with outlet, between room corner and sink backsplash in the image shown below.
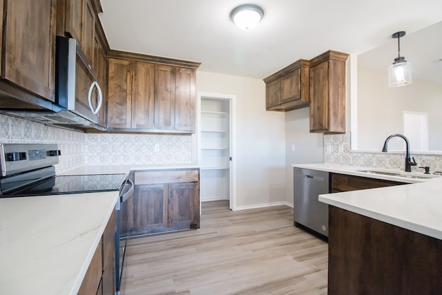
<svg viewBox="0 0 442 295"><path fill-rule="evenodd" d="M310 108L289 111L285 115L286 200L293 204L293 167L291 164L324 162L322 133L310 133ZM292 147L294 146L294 151Z"/></svg>

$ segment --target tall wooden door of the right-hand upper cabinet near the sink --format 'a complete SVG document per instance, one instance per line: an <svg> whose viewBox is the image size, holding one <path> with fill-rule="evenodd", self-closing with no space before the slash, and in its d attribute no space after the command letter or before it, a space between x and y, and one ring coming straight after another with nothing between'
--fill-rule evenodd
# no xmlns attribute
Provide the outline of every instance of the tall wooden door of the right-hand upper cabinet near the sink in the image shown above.
<svg viewBox="0 0 442 295"><path fill-rule="evenodd" d="M310 132L327 131L329 122L329 62L310 68Z"/></svg>

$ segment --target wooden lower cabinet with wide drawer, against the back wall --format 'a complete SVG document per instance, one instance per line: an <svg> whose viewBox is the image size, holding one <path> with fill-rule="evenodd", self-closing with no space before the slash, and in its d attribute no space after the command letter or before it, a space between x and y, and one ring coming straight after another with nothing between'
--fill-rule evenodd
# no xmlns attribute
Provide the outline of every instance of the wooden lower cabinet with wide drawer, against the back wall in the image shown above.
<svg viewBox="0 0 442 295"><path fill-rule="evenodd" d="M122 236L200 228L199 169L135 171L133 180L133 198L122 206Z"/></svg>

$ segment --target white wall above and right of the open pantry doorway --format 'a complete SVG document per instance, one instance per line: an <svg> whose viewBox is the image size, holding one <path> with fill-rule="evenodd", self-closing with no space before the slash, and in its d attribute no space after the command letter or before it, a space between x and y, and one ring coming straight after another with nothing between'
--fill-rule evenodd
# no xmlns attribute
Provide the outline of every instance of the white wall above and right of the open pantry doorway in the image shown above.
<svg viewBox="0 0 442 295"><path fill-rule="evenodd" d="M285 114L265 110L265 83L197 71L197 91L236 95L236 206L285 198Z"/></svg>

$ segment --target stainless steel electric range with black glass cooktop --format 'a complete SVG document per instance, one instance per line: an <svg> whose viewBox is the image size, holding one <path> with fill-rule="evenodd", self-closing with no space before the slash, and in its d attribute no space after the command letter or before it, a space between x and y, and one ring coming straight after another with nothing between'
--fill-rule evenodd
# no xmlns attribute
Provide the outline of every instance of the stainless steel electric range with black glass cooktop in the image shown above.
<svg viewBox="0 0 442 295"><path fill-rule="evenodd" d="M59 155L57 144L0 144L0 198L47 195L62 198L73 193L119 191L115 206L115 283L119 291L126 250L124 238L120 247L120 208L133 194L133 182L126 179L126 174L55 175L53 165L58 163Z"/></svg>

